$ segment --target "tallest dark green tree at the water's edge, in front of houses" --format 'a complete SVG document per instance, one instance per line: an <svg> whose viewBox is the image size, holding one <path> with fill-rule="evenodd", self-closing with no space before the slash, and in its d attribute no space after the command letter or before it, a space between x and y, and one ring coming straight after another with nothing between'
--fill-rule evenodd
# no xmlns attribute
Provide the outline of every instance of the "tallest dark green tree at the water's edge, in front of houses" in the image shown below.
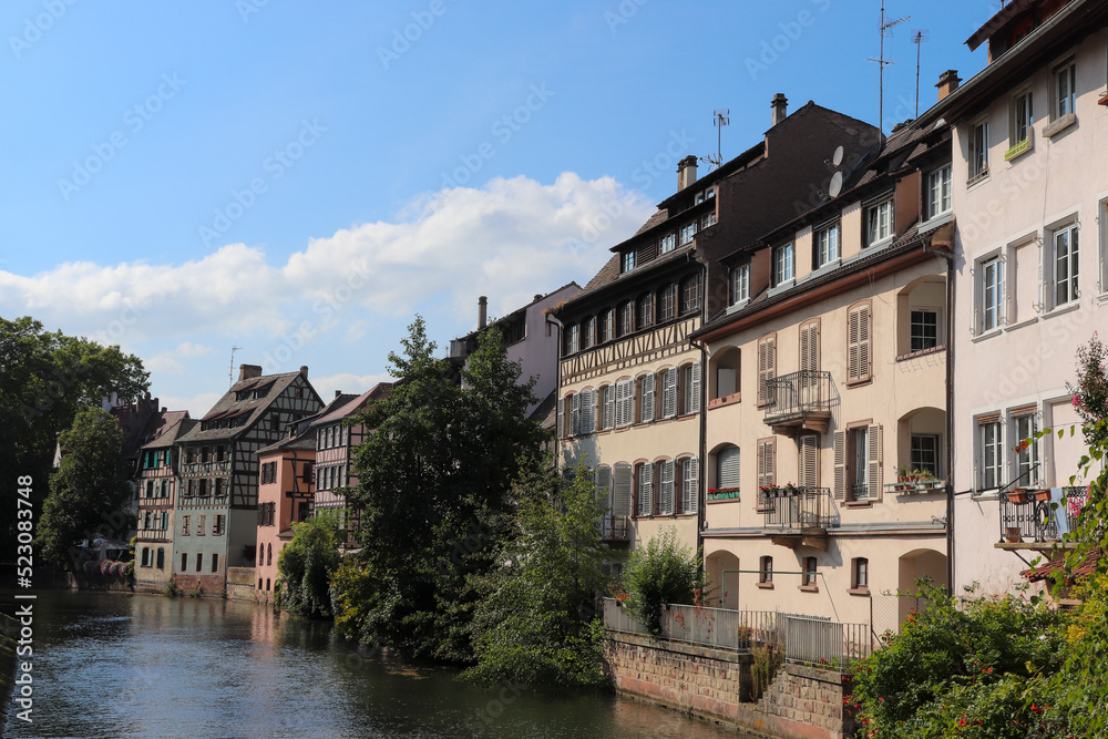
<svg viewBox="0 0 1108 739"><path fill-rule="evenodd" d="M361 513L359 564L373 573L358 636L468 661L476 599L468 578L492 567L511 482L546 437L525 417L534 381L517 383L499 330L481 335L461 384L434 358L422 318L401 343L402 353L389 355L392 392L355 420L375 430L356 452L359 484L349 495Z"/></svg>

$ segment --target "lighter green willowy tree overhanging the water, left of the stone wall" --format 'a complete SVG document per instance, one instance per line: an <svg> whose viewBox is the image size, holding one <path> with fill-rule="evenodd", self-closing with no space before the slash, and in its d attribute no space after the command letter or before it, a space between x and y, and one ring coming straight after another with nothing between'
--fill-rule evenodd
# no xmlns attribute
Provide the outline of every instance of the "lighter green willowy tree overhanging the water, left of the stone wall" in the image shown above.
<svg viewBox="0 0 1108 739"><path fill-rule="evenodd" d="M478 664L463 677L483 685L601 685L604 625L594 606L605 582L604 510L592 475L579 468L563 481L544 466L526 474L513 495L520 501L513 537L478 584Z"/></svg>

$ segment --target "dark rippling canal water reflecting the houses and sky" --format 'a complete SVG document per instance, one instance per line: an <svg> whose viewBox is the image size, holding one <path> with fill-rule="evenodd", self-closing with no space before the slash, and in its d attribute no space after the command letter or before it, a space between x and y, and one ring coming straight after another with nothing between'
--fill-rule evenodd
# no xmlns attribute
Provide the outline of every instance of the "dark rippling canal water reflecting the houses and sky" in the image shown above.
<svg viewBox="0 0 1108 739"><path fill-rule="evenodd" d="M33 723L12 709L4 737L743 736L611 695L476 689L228 601L40 594L33 675Z"/></svg>

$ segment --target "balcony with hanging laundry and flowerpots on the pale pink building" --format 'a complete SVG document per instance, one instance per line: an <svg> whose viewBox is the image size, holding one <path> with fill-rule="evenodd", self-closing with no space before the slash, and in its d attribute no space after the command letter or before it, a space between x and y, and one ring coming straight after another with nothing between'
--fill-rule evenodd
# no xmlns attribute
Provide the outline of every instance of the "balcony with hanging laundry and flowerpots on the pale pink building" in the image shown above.
<svg viewBox="0 0 1108 739"><path fill-rule="evenodd" d="M1050 548L1077 526L1089 499L1088 487L1061 487L1065 503L1051 491L1019 487L1001 496L999 548ZM1055 509L1054 504L1058 507Z"/></svg>

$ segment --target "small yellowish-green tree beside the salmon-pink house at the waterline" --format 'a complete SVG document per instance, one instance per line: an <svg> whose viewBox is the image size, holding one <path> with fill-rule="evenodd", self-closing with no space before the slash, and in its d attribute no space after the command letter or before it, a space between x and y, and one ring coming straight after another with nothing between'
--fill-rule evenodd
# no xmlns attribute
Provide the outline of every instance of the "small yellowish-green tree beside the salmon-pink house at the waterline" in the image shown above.
<svg viewBox="0 0 1108 739"><path fill-rule="evenodd" d="M274 605L295 616L331 616L331 577L339 567L345 541L338 515L319 512L293 524L293 541L277 557L277 596Z"/></svg>

